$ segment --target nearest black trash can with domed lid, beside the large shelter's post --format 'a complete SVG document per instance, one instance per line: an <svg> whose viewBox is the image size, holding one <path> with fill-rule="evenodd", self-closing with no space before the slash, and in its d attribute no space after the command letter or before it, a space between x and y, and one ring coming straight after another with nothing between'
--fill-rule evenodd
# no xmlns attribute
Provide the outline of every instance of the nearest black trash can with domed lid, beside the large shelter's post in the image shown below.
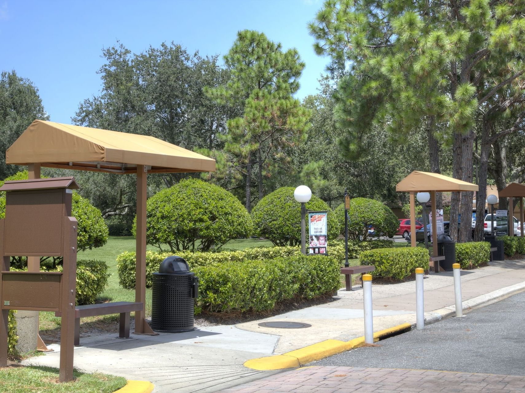
<svg viewBox="0 0 525 393"><path fill-rule="evenodd" d="M198 278L186 261L176 255L164 259L153 273L151 329L158 332L194 330L194 304Z"/></svg>

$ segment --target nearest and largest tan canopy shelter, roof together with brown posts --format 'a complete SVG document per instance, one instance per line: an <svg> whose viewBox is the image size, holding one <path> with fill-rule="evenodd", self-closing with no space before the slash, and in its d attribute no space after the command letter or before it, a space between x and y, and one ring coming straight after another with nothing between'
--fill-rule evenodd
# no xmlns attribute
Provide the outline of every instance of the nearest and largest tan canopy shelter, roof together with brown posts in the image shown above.
<svg viewBox="0 0 525 393"><path fill-rule="evenodd" d="M146 175L215 171L215 160L144 135L35 120L6 151L6 163L27 165L29 179L40 167L137 174L137 280L135 301L146 300ZM40 269L39 257L28 270ZM135 312L135 333L154 334L145 310ZM43 343L40 343L43 344Z"/></svg>

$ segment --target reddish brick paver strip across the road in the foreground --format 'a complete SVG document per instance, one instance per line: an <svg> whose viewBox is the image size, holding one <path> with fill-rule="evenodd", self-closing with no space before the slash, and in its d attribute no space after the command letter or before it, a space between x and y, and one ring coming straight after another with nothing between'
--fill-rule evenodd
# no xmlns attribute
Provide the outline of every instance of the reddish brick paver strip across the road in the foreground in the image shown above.
<svg viewBox="0 0 525 393"><path fill-rule="evenodd" d="M223 393L350 392L510 393L525 391L525 376L394 368L314 366L236 386Z"/></svg>

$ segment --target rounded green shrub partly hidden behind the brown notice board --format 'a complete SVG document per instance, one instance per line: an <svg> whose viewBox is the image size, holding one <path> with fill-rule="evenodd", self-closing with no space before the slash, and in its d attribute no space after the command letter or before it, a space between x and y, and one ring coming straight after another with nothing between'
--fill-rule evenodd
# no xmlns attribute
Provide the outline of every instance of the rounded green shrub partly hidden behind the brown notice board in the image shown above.
<svg viewBox="0 0 525 393"><path fill-rule="evenodd" d="M26 179L27 171L23 171L17 172L13 176L9 176L4 181ZM0 181L0 187L2 187L4 181ZM71 214L78 221L78 250L102 247L107 243L108 226L104 222L100 210L91 205L86 198L82 198L82 196L80 196L76 191L74 191L72 195ZM2 192L2 195L0 195L0 219L3 218L5 218L5 192ZM19 265L22 265L23 259L18 258L17 260ZM56 261L58 261L58 258L56 258L55 262ZM25 265L27 265L27 261L25 262Z"/></svg>

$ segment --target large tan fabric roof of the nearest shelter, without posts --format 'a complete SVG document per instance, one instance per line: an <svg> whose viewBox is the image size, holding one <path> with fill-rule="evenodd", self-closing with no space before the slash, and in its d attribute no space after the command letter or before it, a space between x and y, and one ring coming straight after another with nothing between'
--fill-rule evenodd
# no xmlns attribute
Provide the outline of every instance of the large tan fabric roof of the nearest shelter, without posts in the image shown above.
<svg viewBox="0 0 525 393"><path fill-rule="evenodd" d="M6 163L99 172L215 171L215 160L137 134L35 120L6 151Z"/></svg>

